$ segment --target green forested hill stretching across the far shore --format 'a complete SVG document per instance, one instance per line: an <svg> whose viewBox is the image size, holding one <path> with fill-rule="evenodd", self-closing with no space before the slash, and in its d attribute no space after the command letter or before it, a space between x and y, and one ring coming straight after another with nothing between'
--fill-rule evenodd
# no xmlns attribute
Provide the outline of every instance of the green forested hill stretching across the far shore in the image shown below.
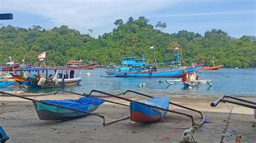
<svg viewBox="0 0 256 143"><path fill-rule="evenodd" d="M98 39L90 34L60 26L45 30L41 26L21 28L2 26L0 29L0 62L12 56L15 62L21 62L25 55L26 62L36 63L37 54L46 51L48 65L65 65L68 60L92 60L108 65L110 62L119 64L122 57L146 56L153 61L154 46L157 62L173 60L173 49L177 45L181 54L182 65L192 62L206 63L215 61L216 65L225 67L256 67L256 38L243 36L240 39L229 37L221 30L206 31L204 35L187 32L161 32L166 26L159 22L150 25L145 17L126 23L122 19L114 22L116 28L111 33L100 35ZM171 26L171 25L170 25Z"/></svg>

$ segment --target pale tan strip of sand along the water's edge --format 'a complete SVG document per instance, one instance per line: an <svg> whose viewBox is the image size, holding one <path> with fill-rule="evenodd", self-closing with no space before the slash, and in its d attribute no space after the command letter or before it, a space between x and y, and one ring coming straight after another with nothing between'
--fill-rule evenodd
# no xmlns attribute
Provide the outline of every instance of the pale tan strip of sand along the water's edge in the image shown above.
<svg viewBox="0 0 256 143"><path fill-rule="evenodd" d="M22 94L21 94L22 95ZM73 94L56 94L56 95L45 95L45 96L29 96L29 98L36 99L36 100L63 100L63 99L78 99L83 96L73 95ZM132 100L141 100L141 99L148 99L147 97L143 96L122 96ZM198 97L191 97L191 96L169 96L170 101L173 103L177 103L183 106L187 106L188 108L196 109L203 112L220 112L220 113L229 113L231 106L233 106L233 113L244 114L244 115L253 115L253 109L245 108L239 105L233 105L230 103L219 103L217 107L212 108L210 104L218 99L218 96L215 97L206 97L206 98L198 98ZM129 102L123 101L122 99L117 99L114 97L107 97L103 98L113 102L123 103L129 105ZM256 102L256 98L253 97L242 97L242 99L247 99L253 102ZM12 96L0 96L0 103L5 102L24 102L28 101L26 99L12 97ZM114 105L113 103L105 102L105 105ZM115 104L116 105L116 104ZM177 106L170 105L169 109L181 109ZM1 113L1 112L0 112Z"/></svg>

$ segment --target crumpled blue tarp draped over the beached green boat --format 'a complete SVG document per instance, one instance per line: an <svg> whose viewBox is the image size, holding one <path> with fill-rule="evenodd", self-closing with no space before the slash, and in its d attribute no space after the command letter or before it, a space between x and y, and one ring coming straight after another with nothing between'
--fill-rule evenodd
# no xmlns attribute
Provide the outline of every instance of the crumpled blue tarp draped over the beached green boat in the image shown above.
<svg viewBox="0 0 256 143"><path fill-rule="evenodd" d="M104 103L102 99L93 98L93 97L82 97L77 100L72 100L72 99L60 100L60 101L43 100L43 102L57 104L60 106L65 106L68 108L73 108L73 109L83 110L83 111L87 111L90 105L100 105Z"/></svg>

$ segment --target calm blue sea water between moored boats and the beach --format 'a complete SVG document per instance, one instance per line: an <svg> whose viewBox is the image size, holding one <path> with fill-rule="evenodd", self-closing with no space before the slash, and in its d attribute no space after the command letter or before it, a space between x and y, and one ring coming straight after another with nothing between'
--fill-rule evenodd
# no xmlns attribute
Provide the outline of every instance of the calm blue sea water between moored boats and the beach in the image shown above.
<svg viewBox="0 0 256 143"><path fill-rule="evenodd" d="M120 93L127 89L143 92L150 95L183 95L183 96L248 96L256 97L256 69L232 69L221 68L219 70L198 70L199 78L213 80L212 87L208 84L198 84L192 89L183 89L183 83L174 85L167 84L165 80L176 78L161 77L101 77L105 74L105 68L82 71L82 81L80 85L65 87L65 90L88 93L92 89L105 92ZM161 68L168 70L168 68ZM86 76L90 73L90 76ZM163 83L159 80L163 79ZM139 84L146 83L140 87ZM19 85L11 85L1 88L2 91L23 90L25 92L53 92L57 89L20 88Z"/></svg>

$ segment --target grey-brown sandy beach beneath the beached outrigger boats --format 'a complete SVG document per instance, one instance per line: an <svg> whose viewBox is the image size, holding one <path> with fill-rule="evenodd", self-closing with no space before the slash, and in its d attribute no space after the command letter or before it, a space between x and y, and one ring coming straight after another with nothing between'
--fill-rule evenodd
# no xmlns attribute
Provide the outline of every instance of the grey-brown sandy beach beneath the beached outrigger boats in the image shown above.
<svg viewBox="0 0 256 143"><path fill-rule="evenodd" d="M30 97L33 99L77 99L76 95L47 95ZM131 99L144 99L129 97ZM129 104L116 98L108 100ZM242 142L256 139L256 120L253 109L239 105L219 103L212 108L210 103L216 97L171 98L173 103L188 106L203 112L207 120L196 133L198 142L235 142L235 135L242 135ZM255 102L255 98L244 98ZM186 116L167 113L165 122L134 123L123 120L103 126L102 118L86 116L65 121L39 120L32 102L16 97L0 96L0 125L9 135L8 142L180 142L184 130L190 128L191 120ZM171 110L189 113L199 121L199 114L170 106ZM106 121L129 115L129 108L112 103L104 103L95 113L105 116ZM226 133L225 135L221 135Z"/></svg>

